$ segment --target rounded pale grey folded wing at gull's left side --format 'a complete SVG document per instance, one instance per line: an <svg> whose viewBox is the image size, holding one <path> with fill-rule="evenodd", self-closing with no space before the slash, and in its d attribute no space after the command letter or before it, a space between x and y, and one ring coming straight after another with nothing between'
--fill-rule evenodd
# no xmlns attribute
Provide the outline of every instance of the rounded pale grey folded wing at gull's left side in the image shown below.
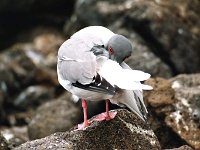
<svg viewBox="0 0 200 150"><path fill-rule="evenodd" d="M96 56L82 40L69 39L58 51L58 73L71 83L89 84L96 75Z"/></svg>

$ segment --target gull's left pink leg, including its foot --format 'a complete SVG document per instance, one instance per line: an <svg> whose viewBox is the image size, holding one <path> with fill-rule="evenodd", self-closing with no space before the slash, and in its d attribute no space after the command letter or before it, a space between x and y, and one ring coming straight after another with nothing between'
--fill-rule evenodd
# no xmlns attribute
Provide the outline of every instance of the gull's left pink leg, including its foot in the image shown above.
<svg viewBox="0 0 200 150"><path fill-rule="evenodd" d="M82 107L83 107L84 122L78 125L78 130L84 129L90 124L87 119L87 102L84 98L82 98Z"/></svg>

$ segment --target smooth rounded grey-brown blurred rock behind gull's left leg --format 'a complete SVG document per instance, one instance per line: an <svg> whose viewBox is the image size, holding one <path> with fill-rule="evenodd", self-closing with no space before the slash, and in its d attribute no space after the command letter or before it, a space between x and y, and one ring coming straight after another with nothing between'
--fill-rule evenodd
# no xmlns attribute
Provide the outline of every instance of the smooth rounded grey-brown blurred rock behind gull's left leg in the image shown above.
<svg viewBox="0 0 200 150"><path fill-rule="evenodd" d="M41 105L28 125L30 139L69 130L80 121L80 110L69 100L69 95Z"/></svg>

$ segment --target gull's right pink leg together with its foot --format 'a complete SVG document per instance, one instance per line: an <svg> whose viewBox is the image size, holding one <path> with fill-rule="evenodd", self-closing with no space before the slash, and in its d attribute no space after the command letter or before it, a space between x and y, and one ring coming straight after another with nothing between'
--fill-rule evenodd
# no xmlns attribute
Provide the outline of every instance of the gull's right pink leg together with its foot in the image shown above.
<svg viewBox="0 0 200 150"><path fill-rule="evenodd" d="M109 112L109 100L106 99L106 112L97 115L94 121L111 120L115 118L117 112Z"/></svg>

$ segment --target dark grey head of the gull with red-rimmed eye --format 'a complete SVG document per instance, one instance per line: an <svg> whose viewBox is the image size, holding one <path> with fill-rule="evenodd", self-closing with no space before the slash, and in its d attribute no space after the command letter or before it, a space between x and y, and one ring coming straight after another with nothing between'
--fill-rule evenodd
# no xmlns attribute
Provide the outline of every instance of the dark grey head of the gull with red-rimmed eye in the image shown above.
<svg viewBox="0 0 200 150"><path fill-rule="evenodd" d="M110 59L121 64L132 53L131 42L122 35L114 35L108 41L107 49L109 51Z"/></svg>

